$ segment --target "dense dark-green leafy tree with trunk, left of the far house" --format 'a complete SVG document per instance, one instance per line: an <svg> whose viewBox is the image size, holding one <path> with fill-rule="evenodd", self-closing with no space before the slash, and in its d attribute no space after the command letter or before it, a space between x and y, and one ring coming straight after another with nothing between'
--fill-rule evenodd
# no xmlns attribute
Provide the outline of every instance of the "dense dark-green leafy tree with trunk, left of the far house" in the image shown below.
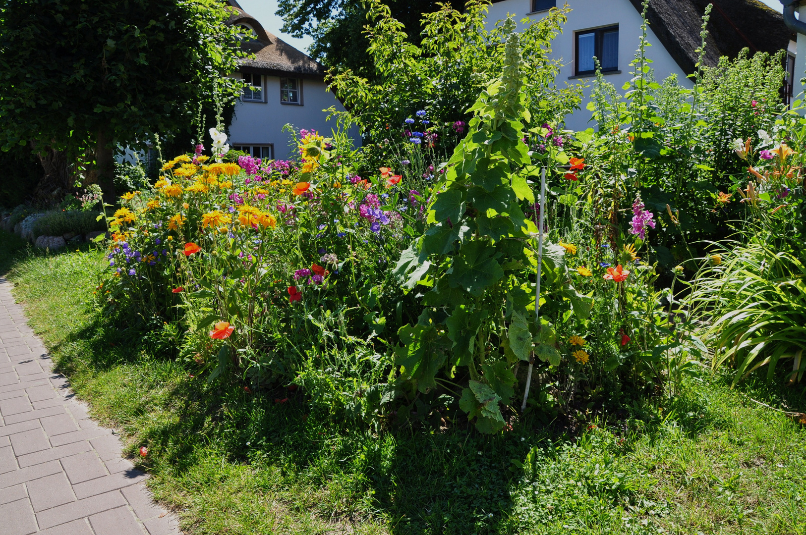
<svg viewBox="0 0 806 535"><path fill-rule="evenodd" d="M217 0L5 0L0 147L66 161L94 147L90 175L114 193L117 143L181 131L215 89L237 94L226 74L242 53L227 17Z"/></svg>

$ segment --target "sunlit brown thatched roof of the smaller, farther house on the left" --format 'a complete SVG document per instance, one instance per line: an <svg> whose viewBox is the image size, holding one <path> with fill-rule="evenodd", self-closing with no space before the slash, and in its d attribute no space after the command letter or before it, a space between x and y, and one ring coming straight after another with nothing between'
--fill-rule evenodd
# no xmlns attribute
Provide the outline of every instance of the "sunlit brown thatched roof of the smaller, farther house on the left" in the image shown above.
<svg viewBox="0 0 806 535"><path fill-rule="evenodd" d="M244 41L241 44L245 50L255 55L254 59L239 60L243 72L271 76L286 74L294 74L298 77L325 76L325 68L322 64L264 30L257 19L244 11L235 0L228 0L228 3L231 15L226 23L229 25L246 24L255 30L257 35L257 39Z"/></svg>

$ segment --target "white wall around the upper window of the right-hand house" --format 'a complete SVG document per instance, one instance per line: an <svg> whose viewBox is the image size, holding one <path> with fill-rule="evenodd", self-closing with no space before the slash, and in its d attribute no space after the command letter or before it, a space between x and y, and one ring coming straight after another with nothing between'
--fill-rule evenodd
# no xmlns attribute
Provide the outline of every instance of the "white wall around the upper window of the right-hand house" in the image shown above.
<svg viewBox="0 0 806 535"><path fill-rule="evenodd" d="M566 125L572 130L585 130L593 126L590 121L591 112L585 106L592 90L592 82L595 77L574 77L574 52L576 31L591 30L599 27L609 27L618 24L618 68L621 73L605 73L605 80L616 86L619 92L621 86L629 81L631 76L629 67L638 48L638 39L641 37L641 14L635 9L629 0L567 0L571 7L568 14L568 21L563 26L563 33L558 35L552 44L552 52L555 58L563 60L563 68L557 77L557 85L563 86L564 82L575 84L584 82L588 87L584 89L585 98L582 102L582 109L566 117ZM557 2L558 6L563 5L563 0ZM530 14L531 0L505 0L490 6L488 14L488 27L492 27L496 21L505 19L508 14L515 15L518 27L522 28L521 19L529 15L532 19L542 19L548 11L538 11ZM802 8L803 9L803 8ZM692 87L692 81L683 73L683 69L672 59L660 40L654 35L651 27L647 34L647 39L652 44L646 49L646 56L653 60L650 64L654 68L654 76L657 81L662 82L672 73L677 74L678 80L687 87ZM800 54L798 57L800 58Z"/></svg>

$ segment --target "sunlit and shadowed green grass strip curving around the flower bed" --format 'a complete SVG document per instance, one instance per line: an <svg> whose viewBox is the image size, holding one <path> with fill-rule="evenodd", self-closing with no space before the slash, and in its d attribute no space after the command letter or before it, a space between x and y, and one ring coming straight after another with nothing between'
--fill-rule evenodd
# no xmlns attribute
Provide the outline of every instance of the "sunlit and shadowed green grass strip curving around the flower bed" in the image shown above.
<svg viewBox="0 0 806 535"><path fill-rule="evenodd" d="M802 386L691 381L574 437L528 418L495 437L373 433L160 356L95 312L103 263L0 231L31 325L93 416L147 446L185 533L806 533L806 429L750 400L806 412Z"/></svg>

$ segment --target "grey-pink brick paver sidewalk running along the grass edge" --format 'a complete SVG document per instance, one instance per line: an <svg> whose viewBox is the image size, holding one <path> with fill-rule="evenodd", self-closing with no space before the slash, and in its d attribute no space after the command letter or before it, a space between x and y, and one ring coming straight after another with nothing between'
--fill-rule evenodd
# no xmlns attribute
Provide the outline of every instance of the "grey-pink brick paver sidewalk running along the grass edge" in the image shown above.
<svg viewBox="0 0 806 535"><path fill-rule="evenodd" d="M0 533L178 534L118 437L51 372L10 286L0 277Z"/></svg>

